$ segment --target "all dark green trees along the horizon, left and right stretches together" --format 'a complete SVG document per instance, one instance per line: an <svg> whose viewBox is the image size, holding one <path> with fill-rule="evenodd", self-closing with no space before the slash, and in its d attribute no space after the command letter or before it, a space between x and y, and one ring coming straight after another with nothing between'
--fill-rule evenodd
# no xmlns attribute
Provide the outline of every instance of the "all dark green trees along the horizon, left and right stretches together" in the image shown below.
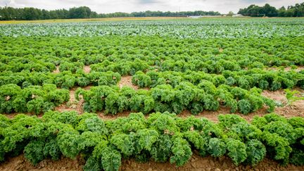
<svg viewBox="0 0 304 171"><path fill-rule="evenodd" d="M265 6L251 5L247 8L239 9L238 14L251 17L303 17L304 3L295 6L282 6L277 9L270 4ZM66 9L47 11L39 8L13 8L0 7L0 20L49 20L49 19L69 19L69 18L115 18L115 17L186 17L190 15L221 15L217 11L182 11L182 12L162 12L143 11L133 13L96 13L87 6L80 6Z"/></svg>

